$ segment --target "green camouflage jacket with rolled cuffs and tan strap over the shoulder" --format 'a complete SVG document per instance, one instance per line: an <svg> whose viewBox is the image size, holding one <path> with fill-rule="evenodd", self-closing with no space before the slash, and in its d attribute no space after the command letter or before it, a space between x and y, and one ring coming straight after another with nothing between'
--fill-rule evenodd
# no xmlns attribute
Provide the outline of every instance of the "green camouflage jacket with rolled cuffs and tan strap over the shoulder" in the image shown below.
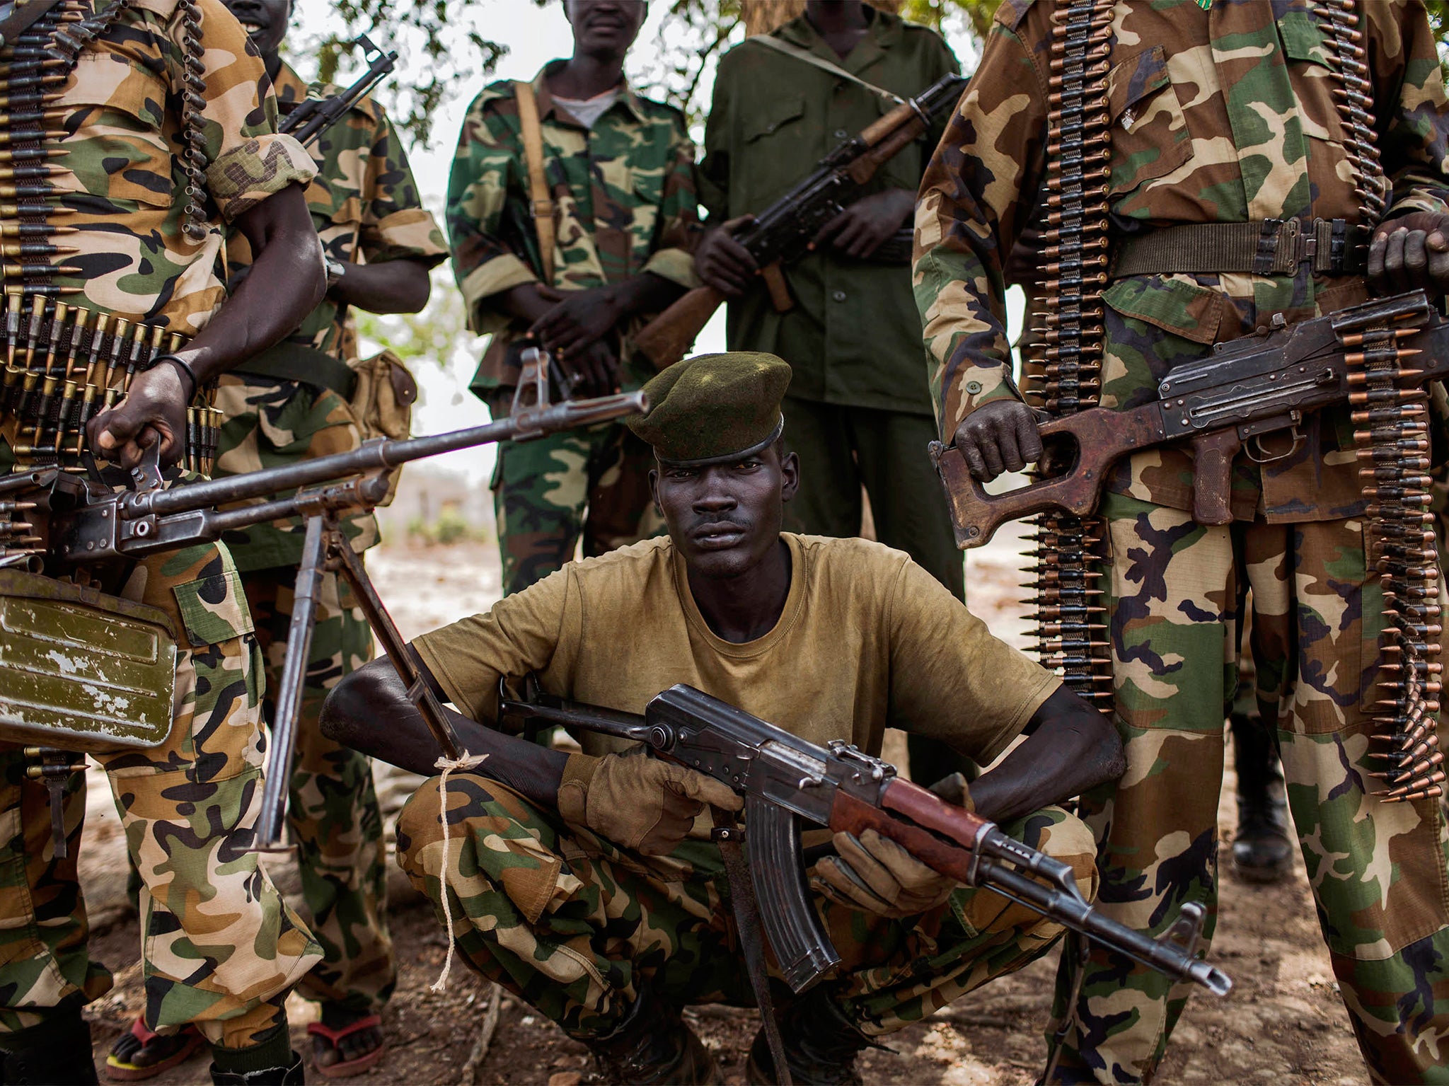
<svg viewBox="0 0 1449 1086"><path fill-rule="evenodd" d="M648 271L697 287L694 146L684 114L625 85L619 100L585 129L549 93L545 77L559 64L552 61L533 78L543 168L555 203L552 285L587 290ZM448 178L448 235L468 327L493 333L474 378L480 394L517 381L504 352L526 329L494 298L539 279L530 207L517 98L513 83L500 80L468 107ZM627 387L653 372L646 365L632 368Z"/></svg>

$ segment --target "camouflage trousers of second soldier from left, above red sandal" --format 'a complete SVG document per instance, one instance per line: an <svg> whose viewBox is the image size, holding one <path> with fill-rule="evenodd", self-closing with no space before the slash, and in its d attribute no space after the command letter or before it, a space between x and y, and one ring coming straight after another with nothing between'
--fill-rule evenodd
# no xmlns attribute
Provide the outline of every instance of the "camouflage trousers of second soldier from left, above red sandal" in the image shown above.
<svg viewBox="0 0 1449 1086"><path fill-rule="evenodd" d="M267 689L281 685L291 624L296 569L242 575ZM387 859L371 760L322 734L317 717L327 691L372 657L372 630L336 573L322 581L297 721L287 827L297 846L301 896L322 961L301 980L310 999L358 1012L380 1009L397 982L387 930ZM274 702L268 702L268 714Z"/></svg>

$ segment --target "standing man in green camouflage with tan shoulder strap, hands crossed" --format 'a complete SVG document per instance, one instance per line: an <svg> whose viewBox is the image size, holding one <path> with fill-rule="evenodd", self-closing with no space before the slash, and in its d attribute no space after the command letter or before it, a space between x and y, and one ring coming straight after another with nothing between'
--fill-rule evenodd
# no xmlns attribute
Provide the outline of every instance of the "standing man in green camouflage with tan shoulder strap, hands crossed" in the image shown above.
<svg viewBox="0 0 1449 1086"><path fill-rule="evenodd" d="M635 390L653 371L629 349L629 332L698 285L684 116L623 78L645 10L640 0L567 0L572 58L532 83L490 84L464 120L448 233L468 327L493 333L472 390L496 418L513 401L525 336L554 352L565 385L555 394ZM503 591L562 566L581 534L584 555L656 534L648 456L620 423L501 445Z"/></svg>

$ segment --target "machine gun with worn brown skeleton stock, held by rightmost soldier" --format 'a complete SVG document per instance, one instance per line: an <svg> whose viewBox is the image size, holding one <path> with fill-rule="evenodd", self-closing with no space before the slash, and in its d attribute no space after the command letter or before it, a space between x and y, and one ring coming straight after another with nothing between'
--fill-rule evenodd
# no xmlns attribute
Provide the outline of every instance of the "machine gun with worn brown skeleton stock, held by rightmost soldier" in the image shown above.
<svg viewBox="0 0 1449 1086"><path fill-rule="evenodd" d="M1371 343L1375 330L1387 339L1381 348ZM1414 368L1397 368L1400 358L1416 358ZM1394 390L1365 388L1369 378L1385 372ZM1266 450L1262 439L1287 433L1297 447L1304 414L1333 404L1350 404L1353 423L1362 427L1423 416L1423 405L1408 403L1423 398L1414 390L1446 376L1449 323L1423 291L1410 291L1219 343L1207 358L1174 366L1151 404L1126 411L1097 407L1042 423L1042 440L1055 443L1053 458L1059 453L1069 466L1020 489L987 494L955 446L932 442L930 456L946 488L961 547L978 547L1006 521L1036 513L1090 514L1116 460L1171 442L1188 442L1193 449L1193 517L1201 524L1227 524L1233 518L1233 458L1245 445L1259 462L1278 459L1287 453ZM1361 433L1366 439L1369 430ZM1368 469L1369 475L1397 482L1406 469L1427 471L1427 437L1414 445L1423 453L1421 463L1420 458L1407 458L1400 465Z"/></svg>

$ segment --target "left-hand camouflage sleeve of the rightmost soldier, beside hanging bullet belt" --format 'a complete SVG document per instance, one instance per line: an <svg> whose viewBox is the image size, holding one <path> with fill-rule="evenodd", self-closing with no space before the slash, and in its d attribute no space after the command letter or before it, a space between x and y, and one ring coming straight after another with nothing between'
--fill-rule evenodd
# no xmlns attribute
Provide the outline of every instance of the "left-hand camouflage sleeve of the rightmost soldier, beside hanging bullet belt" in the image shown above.
<svg viewBox="0 0 1449 1086"><path fill-rule="evenodd" d="M1045 130L1045 68L998 14L916 204L911 282L948 440L981 404L1019 398L1003 271L1040 182Z"/></svg>

